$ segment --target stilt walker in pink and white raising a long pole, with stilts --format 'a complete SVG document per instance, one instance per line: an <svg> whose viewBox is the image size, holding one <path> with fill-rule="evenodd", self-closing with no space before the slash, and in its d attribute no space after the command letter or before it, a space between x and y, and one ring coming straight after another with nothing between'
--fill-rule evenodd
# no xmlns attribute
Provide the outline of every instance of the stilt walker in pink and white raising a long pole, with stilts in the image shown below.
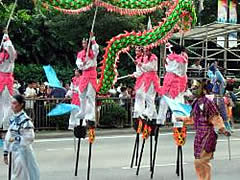
<svg viewBox="0 0 240 180"><path fill-rule="evenodd" d="M89 40L83 39L82 46L83 50L77 55L77 67L82 71L82 76L80 79L80 86L78 88L79 100L80 100L80 111L76 115L76 118L80 119L80 125L75 127L74 134L77 136L78 132L82 135L86 134L86 125L88 127L89 135L89 158L88 158L88 171L87 180L90 179L90 169L91 169L91 156L92 156L92 144L95 139L95 97L97 88L97 56L99 53L99 46L95 41L93 36L93 29L96 21L98 7L96 7L92 29L90 32ZM84 130L85 129L85 130ZM83 136L84 137L84 136ZM77 176L78 167L78 157L80 149L81 136L78 137L78 149L77 149L77 161L75 176Z"/></svg>

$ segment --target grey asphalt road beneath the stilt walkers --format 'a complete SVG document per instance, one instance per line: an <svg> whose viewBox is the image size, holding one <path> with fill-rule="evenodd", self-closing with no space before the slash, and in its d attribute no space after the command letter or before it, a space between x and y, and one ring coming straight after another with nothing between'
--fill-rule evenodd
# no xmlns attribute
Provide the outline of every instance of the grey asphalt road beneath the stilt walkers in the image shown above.
<svg viewBox="0 0 240 180"><path fill-rule="evenodd" d="M189 133L183 147L185 180L197 179L193 167L194 133ZM136 168L130 169L130 159L135 135L98 137L92 151L92 180L147 180L149 172L149 140L145 144L139 176ZM163 133L158 142L156 169L153 179L177 180L175 175L176 146L172 133ZM74 177L75 153L72 138L41 139L34 143L40 166L41 180L87 179L88 141L81 143L79 176ZM240 131L231 137L229 160L228 141L219 137L215 159L212 160L212 180L239 180L240 177ZM0 160L0 180L7 180L7 166Z"/></svg>

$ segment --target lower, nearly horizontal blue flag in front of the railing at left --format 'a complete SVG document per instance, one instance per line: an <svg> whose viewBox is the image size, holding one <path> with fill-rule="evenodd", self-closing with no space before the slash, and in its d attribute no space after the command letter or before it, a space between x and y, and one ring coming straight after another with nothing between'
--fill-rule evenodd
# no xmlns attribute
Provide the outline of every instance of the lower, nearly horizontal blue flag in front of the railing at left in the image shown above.
<svg viewBox="0 0 240 180"><path fill-rule="evenodd" d="M59 116L59 115L67 114L74 109L79 109L79 106L74 104L60 103L48 113L48 116Z"/></svg>

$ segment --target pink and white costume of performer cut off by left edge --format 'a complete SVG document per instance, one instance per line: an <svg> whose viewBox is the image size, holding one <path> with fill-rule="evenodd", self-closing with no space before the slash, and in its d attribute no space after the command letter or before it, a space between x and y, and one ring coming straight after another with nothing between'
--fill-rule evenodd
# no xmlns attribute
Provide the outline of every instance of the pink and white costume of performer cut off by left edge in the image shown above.
<svg viewBox="0 0 240 180"><path fill-rule="evenodd" d="M4 34L3 51L0 52L0 128L8 129L13 95L13 70L17 57L15 48L7 34Z"/></svg>

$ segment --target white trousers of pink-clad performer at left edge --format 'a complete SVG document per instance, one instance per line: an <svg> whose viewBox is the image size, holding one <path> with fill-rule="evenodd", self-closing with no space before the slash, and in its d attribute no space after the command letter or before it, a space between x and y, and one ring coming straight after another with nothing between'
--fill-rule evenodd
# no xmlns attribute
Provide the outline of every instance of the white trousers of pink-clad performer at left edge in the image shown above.
<svg viewBox="0 0 240 180"><path fill-rule="evenodd" d="M5 86L3 92L0 92L0 128L7 130L9 127L9 118L13 114L11 108L12 96Z"/></svg>

